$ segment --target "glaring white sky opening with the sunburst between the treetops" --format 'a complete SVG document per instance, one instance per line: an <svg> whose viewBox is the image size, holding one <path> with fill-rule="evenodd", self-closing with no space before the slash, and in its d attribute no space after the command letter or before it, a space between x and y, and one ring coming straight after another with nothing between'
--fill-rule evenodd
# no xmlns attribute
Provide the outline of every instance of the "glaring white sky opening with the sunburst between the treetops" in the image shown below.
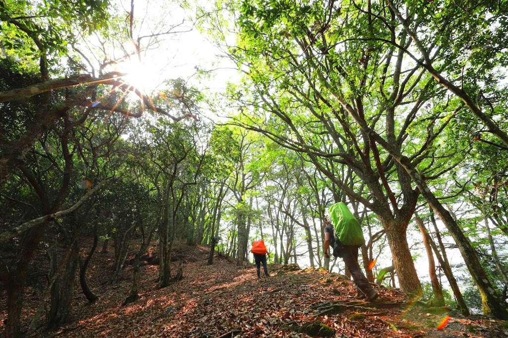
<svg viewBox="0 0 508 338"><path fill-rule="evenodd" d="M120 8L125 13L130 11L129 0L119 0ZM161 5L162 4L162 5ZM183 10L178 5L165 1L135 1L134 14L137 24L133 31L134 39L146 37L155 33L170 32L160 36L160 41L150 49L141 53L141 60L137 56L114 66L116 71L129 73L126 81L142 88L145 92L162 89L165 80L183 78L199 89L210 88L220 90L226 81L234 77L236 71L233 64L225 64L224 60L217 65L217 54L220 50L214 47L192 22L186 20L194 13ZM127 22L128 23L128 22ZM141 40L141 48L153 43L149 38ZM134 44L124 46L128 52L133 52ZM115 51L115 58L123 56L125 51ZM217 70L218 75L211 81L197 78L197 68L200 70Z"/></svg>

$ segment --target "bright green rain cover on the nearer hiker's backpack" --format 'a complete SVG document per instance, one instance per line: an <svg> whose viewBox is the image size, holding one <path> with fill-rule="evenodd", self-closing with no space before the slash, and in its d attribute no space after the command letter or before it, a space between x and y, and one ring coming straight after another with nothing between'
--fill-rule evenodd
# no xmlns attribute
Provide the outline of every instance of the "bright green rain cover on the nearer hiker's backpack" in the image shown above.
<svg viewBox="0 0 508 338"><path fill-rule="evenodd" d="M328 208L332 218L333 229L337 238L344 245L363 245L363 231L356 217L351 213L344 202L338 202Z"/></svg>

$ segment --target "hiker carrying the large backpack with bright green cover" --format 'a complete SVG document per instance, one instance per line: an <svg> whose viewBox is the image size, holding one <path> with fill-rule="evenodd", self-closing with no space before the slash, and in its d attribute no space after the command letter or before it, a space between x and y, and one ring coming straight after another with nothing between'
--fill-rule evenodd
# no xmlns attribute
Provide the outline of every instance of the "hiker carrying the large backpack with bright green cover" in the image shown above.
<svg viewBox="0 0 508 338"><path fill-rule="evenodd" d="M332 248L335 257L341 257L351 273L358 294L366 301L374 301L377 292L370 286L358 264L358 249L365 244L363 231L356 217L344 202L338 202L328 208L325 217L325 257L330 259L328 248Z"/></svg>

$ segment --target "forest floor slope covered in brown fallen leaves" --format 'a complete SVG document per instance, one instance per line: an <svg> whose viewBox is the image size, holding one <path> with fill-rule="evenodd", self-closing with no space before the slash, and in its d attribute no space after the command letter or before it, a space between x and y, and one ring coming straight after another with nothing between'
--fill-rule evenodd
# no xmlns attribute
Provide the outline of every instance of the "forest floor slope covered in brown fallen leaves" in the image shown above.
<svg viewBox="0 0 508 338"><path fill-rule="evenodd" d="M256 267L238 267L223 255L207 265L209 250L181 245L173 255L182 262L183 279L158 289L157 265L143 265L140 299L122 306L131 287L131 265L113 286L111 253L97 253L87 276L100 298L89 303L79 282L72 316L56 330L41 327L33 337L508 337L505 321L481 316L440 314L398 289L378 289L373 303L355 299L356 290L345 276L324 269L269 265L270 277L258 279ZM177 262L172 263L176 271ZM263 273L262 273L263 274ZM23 329L40 303L40 292L27 288ZM5 292L0 295L0 334L6 319ZM42 323L41 323L42 324ZM323 326L321 324L325 324ZM441 325L440 325L441 324ZM446 325L444 325L446 324ZM444 325L444 327L441 327ZM320 327L314 333L304 327ZM440 327L440 328L438 328Z"/></svg>

